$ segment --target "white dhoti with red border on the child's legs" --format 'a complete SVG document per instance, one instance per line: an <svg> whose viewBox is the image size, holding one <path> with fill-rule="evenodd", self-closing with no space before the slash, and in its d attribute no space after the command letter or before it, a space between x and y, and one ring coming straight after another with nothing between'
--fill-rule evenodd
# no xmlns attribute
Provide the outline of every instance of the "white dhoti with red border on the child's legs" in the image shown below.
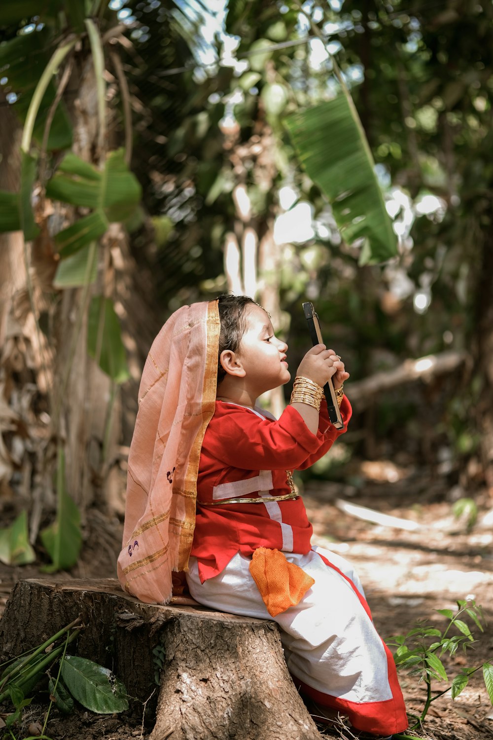
<svg viewBox="0 0 493 740"><path fill-rule="evenodd" d="M201 604L259 619L280 629L288 669L302 693L347 714L358 730L388 735L407 727L392 655L378 635L358 575L341 556L322 548L284 553L315 580L296 606L272 617L237 553L218 576L200 582L197 559L187 573Z"/></svg>

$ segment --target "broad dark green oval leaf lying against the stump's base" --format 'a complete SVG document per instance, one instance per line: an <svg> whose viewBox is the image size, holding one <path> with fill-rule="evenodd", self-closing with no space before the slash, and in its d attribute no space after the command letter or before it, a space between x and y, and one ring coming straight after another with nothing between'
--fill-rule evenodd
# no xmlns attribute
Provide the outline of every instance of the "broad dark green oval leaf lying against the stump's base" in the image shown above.
<svg viewBox="0 0 493 740"><path fill-rule="evenodd" d="M113 714L129 708L123 683L111 670L92 660L66 655L61 675L72 696L92 712Z"/></svg>

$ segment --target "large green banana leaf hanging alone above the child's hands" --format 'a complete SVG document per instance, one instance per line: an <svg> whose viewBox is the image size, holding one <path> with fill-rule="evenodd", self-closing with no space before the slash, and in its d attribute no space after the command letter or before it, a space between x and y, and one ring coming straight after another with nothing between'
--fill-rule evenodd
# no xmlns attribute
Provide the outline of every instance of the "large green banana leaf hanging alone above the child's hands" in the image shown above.
<svg viewBox="0 0 493 740"><path fill-rule="evenodd" d="M369 260L397 254L397 238L356 111L345 95L285 118L307 174L327 195L347 243L367 240Z"/></svg>

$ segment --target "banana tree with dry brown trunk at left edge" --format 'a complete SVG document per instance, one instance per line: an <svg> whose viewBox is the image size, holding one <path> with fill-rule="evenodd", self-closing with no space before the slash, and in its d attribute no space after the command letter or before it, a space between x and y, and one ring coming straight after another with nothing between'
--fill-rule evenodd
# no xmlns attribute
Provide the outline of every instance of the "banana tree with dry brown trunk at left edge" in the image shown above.
<svg viewBox="0 0 493 740"><path fill-rule="evenodd" d="M125 249L121 223L141 198L129 171L129 93L116 51L125 29L106 3L84 0L6 1L1 22L12 37L0 44L0 85L22 128L18 189L0 191L0 232L14 232L7 251L15 232L22 232L28 301L19 313L12 295L0 306L0 326L7 326L4 339L33 348L35 379L47 398L24 448L27 457L34 447L36 457L28 481L38 488L30 539L43 511L55 505L58 513L43 542L52 568L67 568L81 544L74 502L84 521L109 470L118 440L119 388L129 378L113 261L115 250L121 255ZM106 101L109 78L121 114ZM108 121L118 118L124 148L108 132ZM9 332L14 312L15 329ZM4 354L4 377L5 360ZM20 405L12 397L4 401L20 424ZM71 548L63 539L67 531Z"/></svg>

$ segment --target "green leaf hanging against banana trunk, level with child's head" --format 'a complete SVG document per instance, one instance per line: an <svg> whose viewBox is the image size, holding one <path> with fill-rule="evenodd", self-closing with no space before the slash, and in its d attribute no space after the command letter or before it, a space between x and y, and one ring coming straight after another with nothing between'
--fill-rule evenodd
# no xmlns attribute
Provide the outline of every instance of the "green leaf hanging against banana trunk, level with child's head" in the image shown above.
<svg viewBox="0 0 493 740"><path fill-rule="evenodd" d="M124 383L129 379L120 321L110 298L92 298L87 327L87 351L115 383Z"/></svg>

